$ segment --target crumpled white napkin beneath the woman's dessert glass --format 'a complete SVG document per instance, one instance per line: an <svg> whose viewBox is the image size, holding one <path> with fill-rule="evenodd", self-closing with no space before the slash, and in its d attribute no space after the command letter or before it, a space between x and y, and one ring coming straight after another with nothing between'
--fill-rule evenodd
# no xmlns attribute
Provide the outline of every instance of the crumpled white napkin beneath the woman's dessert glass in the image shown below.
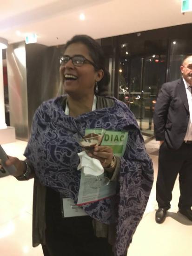
<svg viewBox="0 0 192 256"><path fill-rule="evenodd" d="M85 174L99 176L104 173L104 168L98 159L92 158L86 154L85 151L78 153L80 163L77 169L83 168Z"/></svg>

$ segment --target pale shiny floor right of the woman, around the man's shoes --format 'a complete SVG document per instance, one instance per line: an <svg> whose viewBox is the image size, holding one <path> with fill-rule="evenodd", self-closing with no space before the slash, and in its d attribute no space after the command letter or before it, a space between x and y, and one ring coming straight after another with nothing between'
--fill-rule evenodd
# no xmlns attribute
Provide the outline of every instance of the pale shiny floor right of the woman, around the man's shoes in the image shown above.
<svg viewBox="0 0 192 256"><path fill-rule="evenodd" d="M172 192L171 209L164 223L155 222L156 180L158 168L159 142L152 140L146 144L152 158L154 183L143 219L133 236L127 256L192 256L192 222L178 213L179 181Z"/></svg>

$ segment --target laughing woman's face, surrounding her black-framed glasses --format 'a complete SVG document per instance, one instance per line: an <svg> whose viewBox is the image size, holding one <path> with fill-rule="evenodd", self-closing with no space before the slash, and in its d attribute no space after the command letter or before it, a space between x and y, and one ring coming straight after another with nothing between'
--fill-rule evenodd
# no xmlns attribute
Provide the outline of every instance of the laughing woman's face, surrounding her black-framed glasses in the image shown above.
<svg viewBox="0 0 192 256"><path fill-rule="evenodd" d="M83 43L69 45L64 55L70 57L82 55L87 60L93 62L88 48ZM60 78L65 92L76 97L94 94L95 82L100 81L102 77L103 70L95 71L93 65L88 62L77 67L73 65L72 60L69 60L66 64L60 66Z"/></svg>

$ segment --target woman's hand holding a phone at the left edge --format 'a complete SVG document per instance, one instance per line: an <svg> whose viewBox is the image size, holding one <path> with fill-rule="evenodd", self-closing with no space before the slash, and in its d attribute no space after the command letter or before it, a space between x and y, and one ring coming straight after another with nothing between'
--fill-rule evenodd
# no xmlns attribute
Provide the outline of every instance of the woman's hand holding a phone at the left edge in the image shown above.
<svg viewBox="0 0 192 256"><path fill-rule="evenodd" d="M10 156L8 155L8 158L5 162L5 164L7 166L11 166L11 165L14 165L15 168L16 168L16 173L14 173L14 177L18 177L20 175L23 175L23 173L25 172L26 170L26 164L24 161L20 161L17 157L13 157L13 156ZM0 159L0 169L2 168L1 166L1 159Z"/></svg>

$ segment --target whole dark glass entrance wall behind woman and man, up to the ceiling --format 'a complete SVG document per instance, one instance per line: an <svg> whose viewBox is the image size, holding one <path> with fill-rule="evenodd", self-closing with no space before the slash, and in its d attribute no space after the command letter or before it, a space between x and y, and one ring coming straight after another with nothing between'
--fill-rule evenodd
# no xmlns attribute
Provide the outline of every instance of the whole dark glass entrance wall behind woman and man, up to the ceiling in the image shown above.
<svg viewBox="0 0 192 256"><path fill-rule="evenodd" d="M113 64L112 95L132 110L143 135L153 136L159 88L181 77L182 59L192 54L192 24L105 38L101 45Z"/></svg>

